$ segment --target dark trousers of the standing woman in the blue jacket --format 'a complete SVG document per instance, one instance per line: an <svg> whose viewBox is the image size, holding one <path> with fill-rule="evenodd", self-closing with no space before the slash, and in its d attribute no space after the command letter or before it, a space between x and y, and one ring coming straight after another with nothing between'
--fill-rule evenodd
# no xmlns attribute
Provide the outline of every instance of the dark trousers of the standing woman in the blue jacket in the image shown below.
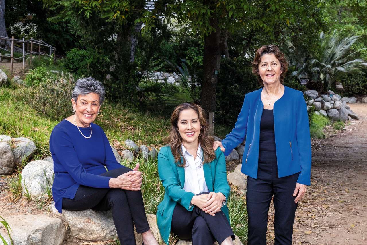
<svg viewBox="0 0 367 245"><path fill-rule="evenodd" d="M276 152L259 152L257 179L247 177L248 245L266 245L270 202L274 196L275 245L291 245L298 203L293 192L297 174L278 177Z"/></svg>

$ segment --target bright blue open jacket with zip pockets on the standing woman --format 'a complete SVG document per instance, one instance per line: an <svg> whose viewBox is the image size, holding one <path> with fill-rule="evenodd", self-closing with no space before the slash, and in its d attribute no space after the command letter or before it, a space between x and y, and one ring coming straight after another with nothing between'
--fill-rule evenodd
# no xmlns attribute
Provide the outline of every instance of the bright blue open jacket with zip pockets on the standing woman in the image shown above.
<svg viewBox="0 0 367 245"><path fill-rule="evenodd" d="M235 128L222 141L227 156L246 137L241 172L257 178L260 120L264 104L262 88L247 93ZM284 86L284 95L274 103L274 131L279 177L299 173L297 183L310 185L311 139L307 106L301 91Z"/></svg>

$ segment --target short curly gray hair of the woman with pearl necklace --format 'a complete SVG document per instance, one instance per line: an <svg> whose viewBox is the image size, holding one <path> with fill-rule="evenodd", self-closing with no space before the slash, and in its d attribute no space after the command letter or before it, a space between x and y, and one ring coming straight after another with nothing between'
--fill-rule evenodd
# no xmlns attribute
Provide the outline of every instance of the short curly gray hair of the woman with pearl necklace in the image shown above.
<svg viewBox="0 0 367 245"><path fill-rule="evenodd" d="M73 90L73 99L75 102L79 95L87 95L88 93L95 93L99 95L99 104L102 104L103 100L105 99L106 92L101 82L91 77L78 79Z"/></svg>

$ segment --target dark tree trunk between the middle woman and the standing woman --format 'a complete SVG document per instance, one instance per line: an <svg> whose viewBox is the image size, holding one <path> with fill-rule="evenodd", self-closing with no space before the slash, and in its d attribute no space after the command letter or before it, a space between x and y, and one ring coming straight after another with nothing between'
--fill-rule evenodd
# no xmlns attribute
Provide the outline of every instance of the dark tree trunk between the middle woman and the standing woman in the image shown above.
<svg viewBox="0 0 367 245"><path fill-rule="evenodd" d="M201 85L201 106L205 112L215 111L215 93L217 89L218 72L221 63L221 30L215 17L210 19L215 32L204 37L203 84Z"/></svg>

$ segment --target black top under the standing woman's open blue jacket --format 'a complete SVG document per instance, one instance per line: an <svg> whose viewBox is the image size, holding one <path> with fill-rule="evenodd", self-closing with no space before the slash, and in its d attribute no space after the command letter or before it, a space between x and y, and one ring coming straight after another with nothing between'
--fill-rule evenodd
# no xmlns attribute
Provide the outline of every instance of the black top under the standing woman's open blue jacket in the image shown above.
<svg viewBox="0 0 367 245"><path fill-rule="evenodd" d="M264 109L260 121L259 150L275 152L274 116L273 110Z"/></svg>

